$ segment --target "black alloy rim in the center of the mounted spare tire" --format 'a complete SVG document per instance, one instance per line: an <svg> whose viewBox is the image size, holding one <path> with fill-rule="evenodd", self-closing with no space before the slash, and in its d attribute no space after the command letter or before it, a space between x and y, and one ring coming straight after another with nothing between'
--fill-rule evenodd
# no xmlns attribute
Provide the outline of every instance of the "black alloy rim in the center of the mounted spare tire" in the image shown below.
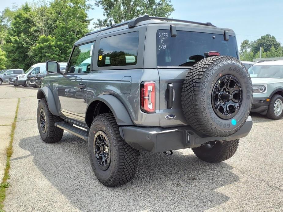
<svg viewBox="0 0 283 212"><path fill-rule="evenodd" d="M215 83L211 95L214 112L222 119L233 118L242 104L242 88L232 75L220 78Z"/></svg>

